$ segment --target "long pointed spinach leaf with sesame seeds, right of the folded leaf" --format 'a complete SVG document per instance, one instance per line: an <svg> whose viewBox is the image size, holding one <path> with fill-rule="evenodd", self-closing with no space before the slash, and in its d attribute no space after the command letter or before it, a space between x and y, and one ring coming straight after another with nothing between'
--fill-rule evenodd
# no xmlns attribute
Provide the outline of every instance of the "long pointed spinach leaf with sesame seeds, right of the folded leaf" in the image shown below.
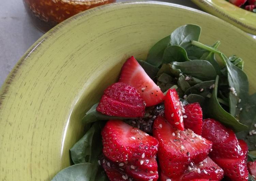
<svg viewBox="0 0 256 181"><path fill-rule="evenodd" d="M239 109L236 105L239 99L246 101L249 91L249 82L247 75L240 68L232 64L224 54L221 54L222 60L226 64L227 78L229 87L234 88L236 92L230 91L229 93L229 112L232 116L239 114Z"/></svg>

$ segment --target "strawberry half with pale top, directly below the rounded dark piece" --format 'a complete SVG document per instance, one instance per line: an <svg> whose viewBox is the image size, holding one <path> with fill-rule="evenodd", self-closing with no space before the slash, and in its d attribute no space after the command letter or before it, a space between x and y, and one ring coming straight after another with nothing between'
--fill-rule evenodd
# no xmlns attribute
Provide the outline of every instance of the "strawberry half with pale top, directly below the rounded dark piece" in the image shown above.
<svg viewBox="0 0 256 181"><path fill-rule="evenodd" d="M131 162L156 155L158 141L121 120L109 120L101 132L104 155L113 162Z"/></svg>

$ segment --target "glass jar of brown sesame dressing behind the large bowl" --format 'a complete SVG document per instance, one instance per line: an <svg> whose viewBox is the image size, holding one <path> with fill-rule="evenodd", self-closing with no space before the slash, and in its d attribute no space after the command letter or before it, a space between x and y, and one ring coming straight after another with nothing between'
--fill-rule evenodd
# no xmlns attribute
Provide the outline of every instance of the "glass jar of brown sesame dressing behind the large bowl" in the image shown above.
<svg viewBox="0 0 256 181"><path fill-rule="evenodd" d="M116 0L23 0L35 26L47 32L65 19L92 7Z"/></svg>

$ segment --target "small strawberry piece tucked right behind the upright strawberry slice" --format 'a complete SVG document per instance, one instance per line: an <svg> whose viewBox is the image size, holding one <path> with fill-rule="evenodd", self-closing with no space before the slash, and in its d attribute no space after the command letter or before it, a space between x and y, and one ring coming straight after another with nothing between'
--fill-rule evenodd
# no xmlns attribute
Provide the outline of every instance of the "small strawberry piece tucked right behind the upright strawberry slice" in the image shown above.
<svg viewBox="0 0 256 181"><path fill-rule="evenodd" d="M186 129L191 129L196 134L202 134L202 108L198 102L187 104L183 110L183 121Z"/></svg>

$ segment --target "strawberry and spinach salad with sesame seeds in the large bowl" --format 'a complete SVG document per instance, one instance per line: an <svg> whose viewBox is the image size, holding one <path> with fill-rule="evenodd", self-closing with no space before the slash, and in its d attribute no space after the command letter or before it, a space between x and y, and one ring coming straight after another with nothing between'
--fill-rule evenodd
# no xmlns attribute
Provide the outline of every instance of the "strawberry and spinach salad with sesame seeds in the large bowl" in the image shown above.
<svg viewBox="0 0 256 181"><path fill-rule="evenodd" d="M52 181L255 181L256 93L243 60L200 32L181 26L126 60Z"/></svg>

